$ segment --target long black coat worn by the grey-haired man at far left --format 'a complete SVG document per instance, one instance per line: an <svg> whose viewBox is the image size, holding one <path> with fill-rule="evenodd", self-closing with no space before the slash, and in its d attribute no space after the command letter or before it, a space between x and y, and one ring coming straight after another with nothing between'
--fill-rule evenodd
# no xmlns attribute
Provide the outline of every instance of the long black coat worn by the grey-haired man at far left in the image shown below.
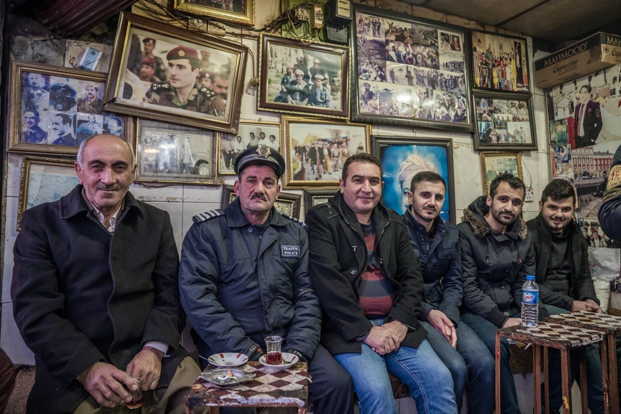
<svg viewBox="0 0 621 414"><path fill-rule="evenodd" d="M82 188L24 211L15 242L13 313L37 366L28 413L73 412L89 395L81 372L97 361L125 370L148 341L170 346L158 389L188 356L168 213L127 193L111 234Z"/></svg>

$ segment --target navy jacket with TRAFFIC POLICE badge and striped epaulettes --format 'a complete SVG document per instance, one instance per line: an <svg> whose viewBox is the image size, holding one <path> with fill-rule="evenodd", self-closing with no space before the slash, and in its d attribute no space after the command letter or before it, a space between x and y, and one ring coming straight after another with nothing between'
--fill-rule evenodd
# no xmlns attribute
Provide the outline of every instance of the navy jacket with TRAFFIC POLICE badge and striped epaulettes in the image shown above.
<svg viewBox="0 0 621 414"><path fill-rule="evenodd" d="M259 234L243 216L239 199L227 208L198 214L181 251L181 303L196 332L201 356L214 352L252 354L263 338L284 338L283 351L312 357L319 344L321 311L308 276L306 226L270 211ZM248 283L258 282L265 330L248 321L240 297ZM250 333L250 335L249 335ZM197 337L197 338L196 338Z"/></svg>

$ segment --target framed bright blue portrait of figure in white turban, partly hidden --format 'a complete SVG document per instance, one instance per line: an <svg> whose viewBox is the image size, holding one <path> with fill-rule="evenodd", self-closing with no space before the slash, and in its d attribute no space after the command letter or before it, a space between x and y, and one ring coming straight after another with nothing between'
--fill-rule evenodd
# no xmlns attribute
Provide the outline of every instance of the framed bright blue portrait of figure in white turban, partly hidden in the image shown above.
<svg viewBox="0 0 621 414"><path fill-rule="evenodd" d="M450 138L401 138L373 136L373 155L382 163L382 204L403 214L409 208L407 192L416 173L437 172L446 181L440 216L455 223L453 140Z"/></svg>

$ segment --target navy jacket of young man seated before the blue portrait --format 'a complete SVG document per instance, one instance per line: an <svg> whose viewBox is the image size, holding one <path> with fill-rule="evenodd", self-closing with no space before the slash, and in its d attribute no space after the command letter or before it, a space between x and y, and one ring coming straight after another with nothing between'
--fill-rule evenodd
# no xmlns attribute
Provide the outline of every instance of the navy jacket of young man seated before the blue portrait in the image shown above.
<svg viewBox="0 0 621 414"><path fill-rule="evenodd" d="M428 313L442 311L455 325L460 321L461 296L461 244L455 224L437 217L436 234L430 241L425 226L418 223L408 209L403 215L410 244L419 258L425 282L425 298L421 304L420 318L426 321Z"/></svg>

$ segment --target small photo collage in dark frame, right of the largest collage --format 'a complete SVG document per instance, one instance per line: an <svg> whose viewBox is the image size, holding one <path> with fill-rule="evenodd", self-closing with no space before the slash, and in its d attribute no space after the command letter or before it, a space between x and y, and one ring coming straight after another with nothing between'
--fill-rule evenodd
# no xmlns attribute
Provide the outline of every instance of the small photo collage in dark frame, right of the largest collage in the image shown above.
<svg viewBox="0 0 621 414"><path fill-rule="evenodd" d="M528 101L476 99L479 144L532 144Z"/></svg>

